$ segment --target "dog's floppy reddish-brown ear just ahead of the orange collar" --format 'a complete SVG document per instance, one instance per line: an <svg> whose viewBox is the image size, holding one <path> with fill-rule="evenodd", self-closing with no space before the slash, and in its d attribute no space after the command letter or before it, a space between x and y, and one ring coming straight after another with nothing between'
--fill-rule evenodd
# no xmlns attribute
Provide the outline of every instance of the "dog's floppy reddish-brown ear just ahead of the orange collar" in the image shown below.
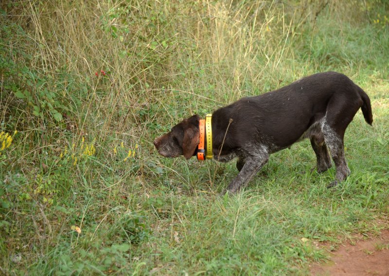
<svg viewBox="0 0 389 276"><path fill-rule="evenodd" d="M184 139L182 141L182 152L186 159L193 156L197 145L200 143L199 120L200 117L198 115L187 119L188 126L185 128Z"/></svg>

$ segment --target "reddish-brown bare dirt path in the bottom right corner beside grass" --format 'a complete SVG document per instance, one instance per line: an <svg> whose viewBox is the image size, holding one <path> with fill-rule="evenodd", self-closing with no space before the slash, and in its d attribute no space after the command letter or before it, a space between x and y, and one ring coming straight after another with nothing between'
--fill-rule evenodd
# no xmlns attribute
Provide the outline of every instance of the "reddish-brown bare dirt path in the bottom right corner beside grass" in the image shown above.
<svg viewBox="0 0 389 276"><path fill-rule="evenodd" d="M379 238L350 242L331 252L331 259L310 268L315 276L389 276L389 231Z"/></svg>

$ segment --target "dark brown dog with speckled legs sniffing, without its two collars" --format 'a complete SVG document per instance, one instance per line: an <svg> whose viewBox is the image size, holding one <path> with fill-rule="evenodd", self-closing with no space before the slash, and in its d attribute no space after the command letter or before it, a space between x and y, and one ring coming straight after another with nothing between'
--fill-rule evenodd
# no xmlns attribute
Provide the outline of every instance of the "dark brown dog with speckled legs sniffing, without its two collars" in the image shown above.
<svg viewBox="0 0 389 276"><path fill-rule="evenodd" d="M350 175L344 156L343 138L354 115L362 109L365 121L373 117L369 96L347 76L337 72L317 73L294 83L247 97L212 113L213 158L228 162L237 157L238 175L228 190L236 192L265 165L269 155L304 138L311 140L318 173L336 166L334 187ZM199 144L198 115L185 119L154 140L165 157L196 154Z"/></svg>

